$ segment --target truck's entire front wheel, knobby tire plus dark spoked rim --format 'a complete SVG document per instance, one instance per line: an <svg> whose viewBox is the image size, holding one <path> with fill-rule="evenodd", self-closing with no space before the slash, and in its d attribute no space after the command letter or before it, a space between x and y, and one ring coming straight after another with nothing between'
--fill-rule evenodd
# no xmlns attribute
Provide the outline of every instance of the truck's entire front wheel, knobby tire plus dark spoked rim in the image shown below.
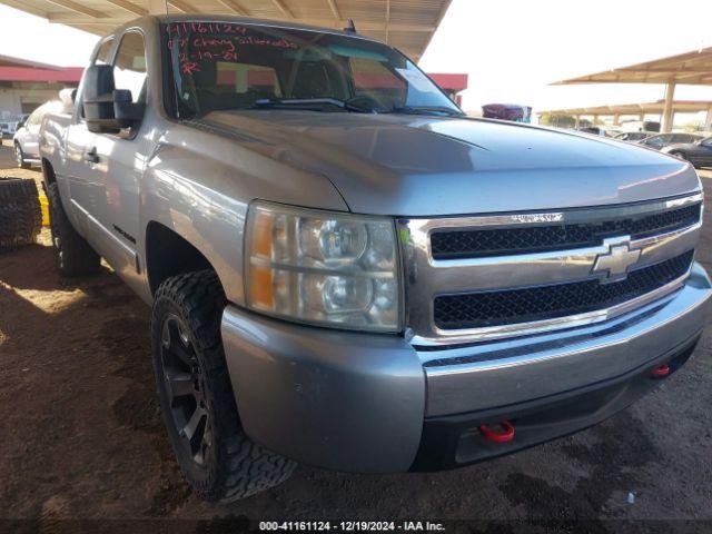
<svg viewBox="0 0 712 534"><path fill-rule="evenodd" d="M202 270L162 283L151 315L168 437L194 490L220 503L276 486L296 465L253 443L240 427L220 337L226 304L216 274Z"/></svg>

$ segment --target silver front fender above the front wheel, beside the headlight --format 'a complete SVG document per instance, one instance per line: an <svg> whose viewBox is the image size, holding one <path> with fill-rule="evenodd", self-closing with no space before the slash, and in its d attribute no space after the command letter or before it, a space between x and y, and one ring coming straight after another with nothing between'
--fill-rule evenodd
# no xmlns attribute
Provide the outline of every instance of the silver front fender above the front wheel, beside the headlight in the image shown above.
<svg viewBox="0 0 712 534"><path fill-rule="evenodd" d="M243 238L254 199L348 209L328 179L184 125L175 125L159 140L141 188L142 228L160 222L196 247L237 305L245 304ZM146 250L145 235L142 241Z"/></svg>

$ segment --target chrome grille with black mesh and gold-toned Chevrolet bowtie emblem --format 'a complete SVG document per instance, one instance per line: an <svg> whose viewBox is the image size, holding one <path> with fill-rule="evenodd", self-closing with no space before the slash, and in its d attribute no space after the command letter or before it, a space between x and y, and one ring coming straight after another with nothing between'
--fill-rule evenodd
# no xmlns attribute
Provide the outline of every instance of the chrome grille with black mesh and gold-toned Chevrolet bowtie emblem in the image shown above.
<svg viewBox="0 0 712 534"><path fill-rule="evenodd" d="M408 337L415 345L452 345L615 317L684 283L701 220L701 194L398 220ZM448 245L441 240L453 236Z"/></svg>

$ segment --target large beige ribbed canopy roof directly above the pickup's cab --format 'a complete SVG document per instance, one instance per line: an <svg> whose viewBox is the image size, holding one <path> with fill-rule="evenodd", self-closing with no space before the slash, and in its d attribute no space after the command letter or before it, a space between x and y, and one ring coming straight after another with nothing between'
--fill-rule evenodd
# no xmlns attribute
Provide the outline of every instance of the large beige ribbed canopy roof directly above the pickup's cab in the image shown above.
<svg viewBox="0 0 712 534"><path fill-rule="evenodd" d="M50 22L105 34L149 13L255 17L356 30L421 59L452 0L0 0Z"/></svg>

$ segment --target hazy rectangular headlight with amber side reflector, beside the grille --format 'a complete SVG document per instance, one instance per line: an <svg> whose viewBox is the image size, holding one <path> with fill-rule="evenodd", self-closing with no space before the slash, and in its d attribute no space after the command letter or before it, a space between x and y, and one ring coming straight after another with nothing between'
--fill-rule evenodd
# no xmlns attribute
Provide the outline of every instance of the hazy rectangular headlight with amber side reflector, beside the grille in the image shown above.
<svg viewBox="0 0 712 534"><path fill-rule="evenodd" d="M248 307L301 323L398 332L394 221L255 202L247 216Z"/></svg>

